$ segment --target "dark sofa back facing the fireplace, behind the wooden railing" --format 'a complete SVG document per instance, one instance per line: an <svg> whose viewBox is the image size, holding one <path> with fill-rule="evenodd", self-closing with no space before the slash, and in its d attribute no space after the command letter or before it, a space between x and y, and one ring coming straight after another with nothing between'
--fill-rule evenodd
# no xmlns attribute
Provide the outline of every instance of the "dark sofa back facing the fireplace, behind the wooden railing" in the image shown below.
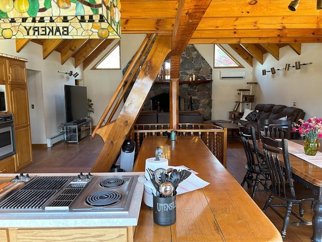
<svg viewBox="0 0 322 242"><path fill-rule="evenodd" d="M203 114L199 111L179 111L179 123L203 124ZM141 111L136 124L169 124L169 112Z"/></svg>

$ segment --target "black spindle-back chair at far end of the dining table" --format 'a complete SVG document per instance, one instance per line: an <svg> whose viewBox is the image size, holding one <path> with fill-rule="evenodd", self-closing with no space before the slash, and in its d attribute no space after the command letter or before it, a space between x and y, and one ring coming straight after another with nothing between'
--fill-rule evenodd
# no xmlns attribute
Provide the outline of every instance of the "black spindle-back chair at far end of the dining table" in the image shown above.
<svg viewBox="0 0 322 242"><path fill-rule="evenodd" d="M291 122L280 119L257 119L259 137L265 135L273 139L291 139Z"/></svg>

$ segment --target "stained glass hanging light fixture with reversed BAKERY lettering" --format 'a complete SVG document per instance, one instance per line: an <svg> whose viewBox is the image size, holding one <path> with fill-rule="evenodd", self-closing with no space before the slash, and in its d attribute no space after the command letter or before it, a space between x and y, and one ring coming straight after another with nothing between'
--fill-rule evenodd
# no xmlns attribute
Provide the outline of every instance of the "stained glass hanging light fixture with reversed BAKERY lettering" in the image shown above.
<svg viewBox="0 0 322 242"><path fill-rule="evenodd" d="M0 1L0 39L121 37L120 0Z"/></svg>

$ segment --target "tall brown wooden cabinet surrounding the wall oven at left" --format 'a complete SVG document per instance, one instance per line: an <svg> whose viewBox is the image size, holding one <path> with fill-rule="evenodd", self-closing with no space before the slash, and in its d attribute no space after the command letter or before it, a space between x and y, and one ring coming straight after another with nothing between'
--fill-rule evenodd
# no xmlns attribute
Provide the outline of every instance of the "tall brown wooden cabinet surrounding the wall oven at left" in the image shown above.
<svg viewBox="0 0 322 242"><path fill-rule="evenodd" d="M10 172L19 171L32 162L26 64L19 59L0 57L0 84L5 84L8 113L14 114L16 154ZM0 160L1 164L4 162ZM8 164L8 163L7 163ZM14 169L14 170L12 170ZM1 171L2 169L0 169ZM8 171L5 171L6 173Z"/></svg>

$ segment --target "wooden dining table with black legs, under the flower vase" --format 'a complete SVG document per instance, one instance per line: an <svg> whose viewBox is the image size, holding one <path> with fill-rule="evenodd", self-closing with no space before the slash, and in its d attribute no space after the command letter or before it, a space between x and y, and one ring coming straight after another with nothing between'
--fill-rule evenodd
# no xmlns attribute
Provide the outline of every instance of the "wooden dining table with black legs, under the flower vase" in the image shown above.
<svg viewBox="0 0 322 242"><path fill-rule="evenodd" d="M303 144L304 140L288 140L288 142ZM259 152L264 154L261 140L257 140L257 146ZM313 208L313 234L311 241L322 242L322 168L292 155L291 153L289 153L289 160L292 172L306 181L305 185L312 189L315 205Z"/></svg>

